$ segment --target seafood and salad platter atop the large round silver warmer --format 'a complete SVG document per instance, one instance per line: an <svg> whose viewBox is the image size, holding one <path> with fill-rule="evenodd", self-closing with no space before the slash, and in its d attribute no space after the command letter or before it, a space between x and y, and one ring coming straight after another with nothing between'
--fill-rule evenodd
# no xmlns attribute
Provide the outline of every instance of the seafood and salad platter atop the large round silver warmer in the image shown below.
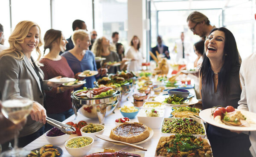
<svg viewBox="0 0 256 157"><path fill-rule="evenodd" d="M85 88L73 93L76 98L92 99L92 98L106 98L116 94L117 91L112 87L99 87L99 88Z"/></svg>

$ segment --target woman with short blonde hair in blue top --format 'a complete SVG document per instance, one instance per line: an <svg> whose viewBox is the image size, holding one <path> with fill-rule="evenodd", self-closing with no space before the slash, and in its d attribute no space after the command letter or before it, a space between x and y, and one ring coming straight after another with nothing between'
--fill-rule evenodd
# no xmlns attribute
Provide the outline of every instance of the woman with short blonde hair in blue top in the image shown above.
<svg viewBox="0 0 256 157"><path fill-rule="evenodd" d="M61 54L61 56L67 59L67 63L69 64L74 74L79 74L84 70L96 71L97 69L96 69L95 56L93 52L88 50L90 46L89 34L82 29L76 30L72 35L72 40L75 47L70 51L64 52L63 54ZM99 69L98 75L86 77L85 78L86 83L84 84L84 86L87 88L93 88L94 87L93 82L96 81L96 77L99 77L100 74L104 75L104 71L102 72ZM81 78L81 79L84 79L84 78Z"/></svg>

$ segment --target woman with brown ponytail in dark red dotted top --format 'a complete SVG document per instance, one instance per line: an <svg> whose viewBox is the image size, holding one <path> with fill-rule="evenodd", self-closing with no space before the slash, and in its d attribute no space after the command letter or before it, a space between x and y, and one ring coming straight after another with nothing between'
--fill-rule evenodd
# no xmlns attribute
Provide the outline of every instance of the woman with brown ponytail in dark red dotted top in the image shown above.
<svg viewBox="0 0 256 157"><path fill-rule="evenodd" d="M68 43L63 33L59 30L49 29L44 35L44 43L44 53L46 49L49 49L49 53L40 60L40 63L44 64L40 67L44 71L44 79L48 80L52 76L74 78L74 73L66 58L59 55L60 51L66 50ZM45 91L44 107L47 117L62 122L74 114L70 98L72 90L73 88L70 86L60 86L52 88L51 91ZM45 131L51 128L52 126L46 124Z"/></svg>

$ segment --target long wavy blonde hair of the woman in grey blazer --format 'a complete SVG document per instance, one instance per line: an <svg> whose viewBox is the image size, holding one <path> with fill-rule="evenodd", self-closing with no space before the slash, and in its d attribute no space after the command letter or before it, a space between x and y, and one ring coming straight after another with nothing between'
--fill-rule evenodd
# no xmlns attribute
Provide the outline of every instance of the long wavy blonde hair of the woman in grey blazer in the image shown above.
<svg viewBox="0 0 256 157"><path fill-rule="evenodd" d="M41 29L38 26L38 24L32 22L32 21L20 21L12 34L9 37L9 44L10 47L8 49L5 49L1 51L0 53L0 58L3 56L12 56L17 60L23 60L24 59L24 54L22 52L22 47L20 46L20 43L24 42L24 39L26 38L27 34L29 33L29 30L33 27L37 26L39 29L39 43L38 46L35 48L36 52L38 53L38 59L36 60L36 63L38 63L39 59L41 58L41 51L39 49L40 46L43 45L43 40L41 37ZM12 54L15 53L15 54Z"/></svg>

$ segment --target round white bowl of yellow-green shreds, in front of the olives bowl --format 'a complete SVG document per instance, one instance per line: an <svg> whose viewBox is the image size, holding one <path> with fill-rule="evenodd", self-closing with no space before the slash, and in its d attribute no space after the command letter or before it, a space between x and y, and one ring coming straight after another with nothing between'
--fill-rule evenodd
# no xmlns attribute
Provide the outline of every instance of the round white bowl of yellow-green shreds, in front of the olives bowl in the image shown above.
<svg viewBox="0 0 256 157"><path fill-rule="evenodd" d="M81 147L81 148L69 148L69 147L67 147L67 143L68 143L69 141L73 141L73 140L76 140L76 139L81 138L81 137L85 137L85 138L87 138L88 140L91 140L92 143L90 143L90 144L87 145L87 146ZM93 146L93 142L94 142L94 140L93 140L92 137L88 137L88 136L73 137L73 138L71 138L70 140L68 140L67 142L65 142L65 148L66 148L67 152L68 152L70 155L72 155L73 157L83 157L83 156L85 156L85 155L88 153L88 151L90 151L90 149L91 149L92 146Z"/></svg>

